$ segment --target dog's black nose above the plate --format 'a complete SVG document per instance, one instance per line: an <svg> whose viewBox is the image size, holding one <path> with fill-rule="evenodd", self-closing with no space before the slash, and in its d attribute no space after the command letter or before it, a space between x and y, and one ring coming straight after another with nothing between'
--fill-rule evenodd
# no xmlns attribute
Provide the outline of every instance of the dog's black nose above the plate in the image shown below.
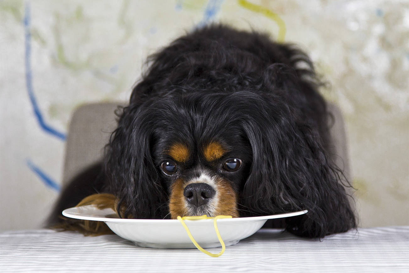
<svg viewBox="0 0 409 273"><path fill-rule="evenodd" d="M206 183L193 183L184 188L186 200L195 206L205 205L216 194L216 191Z"/></svg>

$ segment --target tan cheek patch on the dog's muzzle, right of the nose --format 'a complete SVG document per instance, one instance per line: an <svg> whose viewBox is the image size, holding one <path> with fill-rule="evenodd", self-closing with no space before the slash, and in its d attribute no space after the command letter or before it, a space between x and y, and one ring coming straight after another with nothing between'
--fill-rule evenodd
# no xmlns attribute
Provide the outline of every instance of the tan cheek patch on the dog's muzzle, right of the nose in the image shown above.
<svg viewBox="0 0 409 273"><path fill-rule="evenodd" d="M238 197L231 187L230 182L223 178L219 178L216 183L216 192L218 194L218 203L214 215L231 215L234 218L239 217L237 209Z"/></svg>

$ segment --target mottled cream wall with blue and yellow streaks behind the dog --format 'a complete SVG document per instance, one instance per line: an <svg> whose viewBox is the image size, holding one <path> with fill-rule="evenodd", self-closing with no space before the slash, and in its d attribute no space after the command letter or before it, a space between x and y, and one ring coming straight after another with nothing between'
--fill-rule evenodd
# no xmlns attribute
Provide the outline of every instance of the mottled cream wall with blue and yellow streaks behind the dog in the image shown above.
<svg viewBox="0 0 409 273"><path fill-rule="evenodd" d="M345 116L360 226L408 225L407 1L2 0L1 230L49 213L77 106L126 101L148 54L211 22L310 54Z"/></svg>

